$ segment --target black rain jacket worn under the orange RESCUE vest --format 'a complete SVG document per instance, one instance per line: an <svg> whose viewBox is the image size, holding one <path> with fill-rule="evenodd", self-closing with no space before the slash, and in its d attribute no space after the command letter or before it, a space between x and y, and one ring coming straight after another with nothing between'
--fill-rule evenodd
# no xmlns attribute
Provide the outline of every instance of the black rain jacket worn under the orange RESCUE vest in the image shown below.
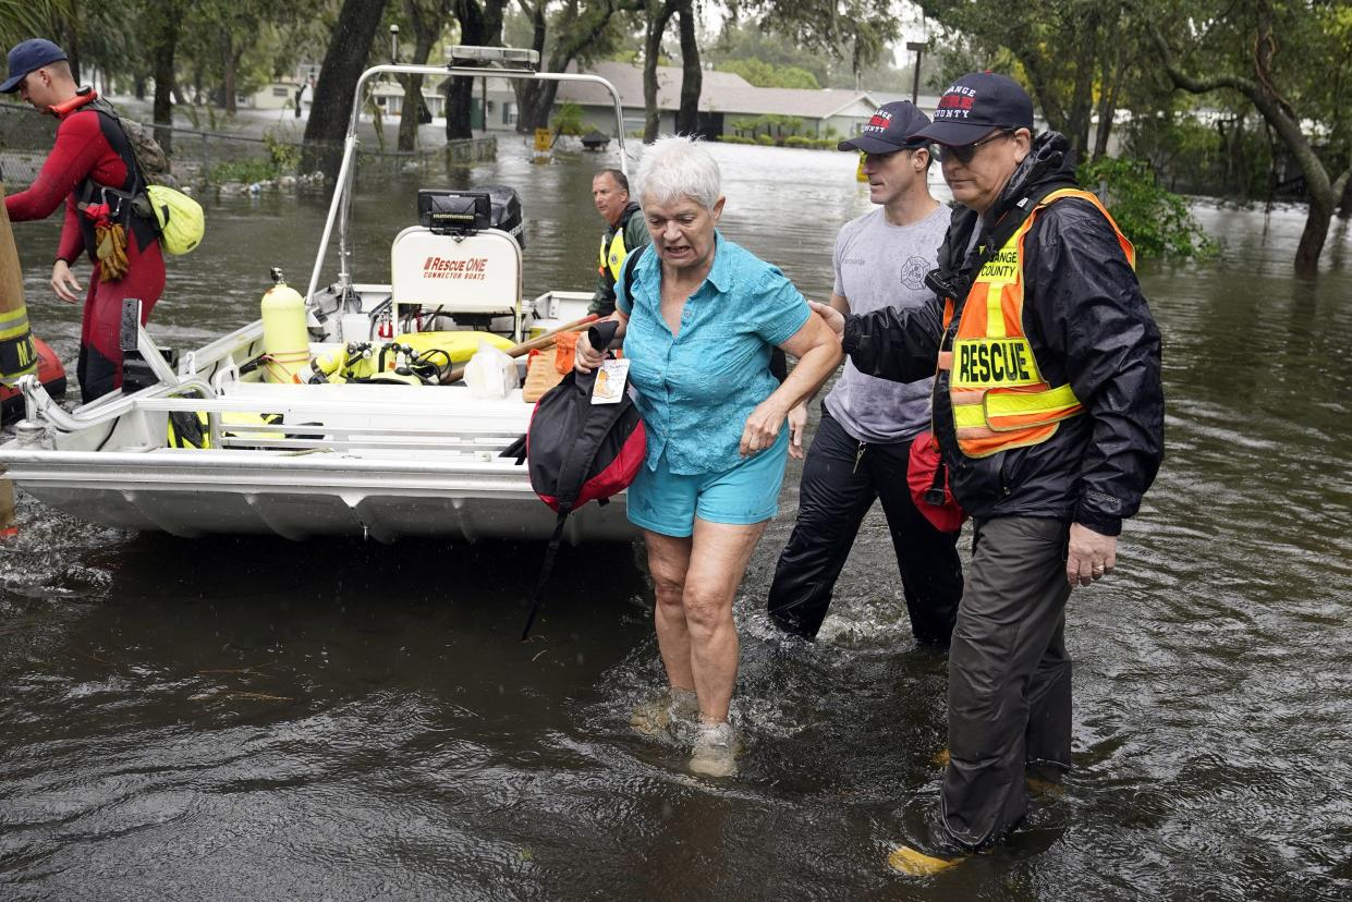
<svg viewBox="0 0 1352 902"><path fill-rule="evenodd" d="M998 250L1041 197L1076 187L1067 151L1059 133L1038 135L987 216L955 214L929 284L965 302L987 246ZM1023 252L1023 331L1048 384L1069 381L1086 412L1040 445L967 457L953 431L949 375L940 372L933 422L953 495L979 521L1048 517L1117 536L1164 460L1160 331L1113 227L1087 201L1069 197L1040 212ZM940 348L952 348L960 315L961 307L945 333L937 293L923 307L848 316L844 349L871 376L926 379Z"/></svg>

